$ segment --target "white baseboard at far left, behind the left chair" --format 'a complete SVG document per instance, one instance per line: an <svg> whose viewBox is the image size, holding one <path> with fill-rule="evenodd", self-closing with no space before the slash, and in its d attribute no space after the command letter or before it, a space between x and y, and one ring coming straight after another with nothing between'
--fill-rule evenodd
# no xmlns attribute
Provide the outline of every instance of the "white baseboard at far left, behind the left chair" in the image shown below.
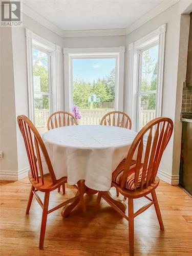
<svg viewBox="0 0 192 256"><path fill-rule="evenodd" d="M0 170L0 180L20 180L28 176L29 167L21 170Z"/></svg>

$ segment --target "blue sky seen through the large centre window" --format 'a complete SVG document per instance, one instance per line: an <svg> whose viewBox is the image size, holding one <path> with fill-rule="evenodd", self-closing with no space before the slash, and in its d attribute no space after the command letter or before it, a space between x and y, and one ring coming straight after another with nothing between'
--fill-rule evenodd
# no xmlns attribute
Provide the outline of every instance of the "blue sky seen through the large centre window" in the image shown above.
<svg viewBox="0 0 192 256"><path fill-rule="evenodd" d="M110 75L115 68L115 58L73 59L73 79L83 78L91 83Z"/></svg>

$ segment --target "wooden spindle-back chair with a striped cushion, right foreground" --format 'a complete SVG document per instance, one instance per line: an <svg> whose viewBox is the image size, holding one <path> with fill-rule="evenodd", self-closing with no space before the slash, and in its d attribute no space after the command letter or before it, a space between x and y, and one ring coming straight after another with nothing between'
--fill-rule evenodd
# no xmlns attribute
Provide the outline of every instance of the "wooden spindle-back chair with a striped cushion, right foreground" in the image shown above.
<svg viewBox="0 0 192 256"><path fill-rule="evenodd" d="M134 255L134 218L154 204L160 229L164 230L163 221L155 189L159 185L159 178L156 176L161 157L172 136L173 122L166 117L159 117L148 122L134 139L127 158L112 175L112 186L128 198L128 217L125 209L122 210L112 204L109 198L109 191L101 191L98 194L98 203L101 197L108 202L116 211L129 221L129 246L130 255ZM154 133L154 136L153 136ZM137 153L136 160L133 160L134 153ZM147 195L151 194L152 199ZM134 213L133 200L145 197L150 203L141 207Z"/></svg>

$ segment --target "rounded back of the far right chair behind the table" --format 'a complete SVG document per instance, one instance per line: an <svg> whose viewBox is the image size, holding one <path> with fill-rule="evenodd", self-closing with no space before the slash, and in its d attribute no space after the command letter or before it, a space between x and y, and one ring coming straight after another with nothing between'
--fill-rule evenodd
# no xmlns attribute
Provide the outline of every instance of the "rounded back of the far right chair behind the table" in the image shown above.
<svg viewBox="0 0 192 256"><path fill-rule="evenodd" d="M112 111L105 114L102 117L100 124L123 127L130 130L132 127L132 122L130 117L126 113L121 111Z"/></svg>

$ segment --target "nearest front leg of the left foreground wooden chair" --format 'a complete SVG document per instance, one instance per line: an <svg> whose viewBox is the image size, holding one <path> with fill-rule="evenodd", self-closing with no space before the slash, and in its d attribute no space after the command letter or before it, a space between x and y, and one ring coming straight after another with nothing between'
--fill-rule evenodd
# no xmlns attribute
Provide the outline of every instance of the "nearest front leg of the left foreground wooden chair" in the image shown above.
<svg viewBox="0 0 192 256"><path fill-rule="evenodd" d="M48 206L49 206L49 194L50 192L46 192L44 197L44 207L42 208L42 219L41 219L41 227L40 227L39 249L44 248L44 239L45 239L47 215L48 215L47 212L48 212Z"/></svg>

